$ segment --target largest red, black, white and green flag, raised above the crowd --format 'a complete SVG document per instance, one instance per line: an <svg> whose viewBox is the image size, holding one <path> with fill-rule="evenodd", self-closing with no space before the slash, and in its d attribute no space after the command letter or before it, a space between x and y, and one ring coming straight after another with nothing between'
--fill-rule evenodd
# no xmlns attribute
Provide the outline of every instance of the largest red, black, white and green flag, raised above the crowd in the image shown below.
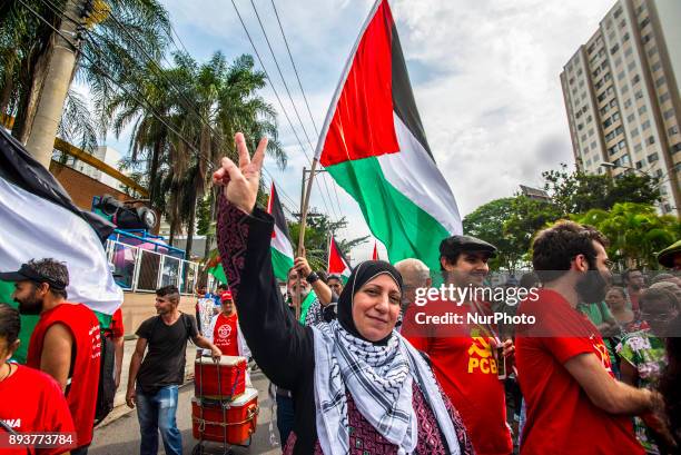
<svg viewBox="0 0 681 455"><path fill-rule="evenodd" d="M391 261L440 268L440 241L462 233L461 216L426 141L387 0L355 44L316 157L359 204Z"/></svg>

